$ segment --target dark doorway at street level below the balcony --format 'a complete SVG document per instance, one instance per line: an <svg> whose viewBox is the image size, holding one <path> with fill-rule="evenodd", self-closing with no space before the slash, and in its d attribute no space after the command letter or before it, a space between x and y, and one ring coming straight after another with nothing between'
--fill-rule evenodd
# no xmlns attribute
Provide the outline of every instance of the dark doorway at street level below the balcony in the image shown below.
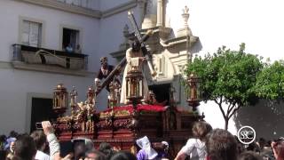
<svg viewBox="0 0 284 160"><path fill-rule="evenodd" d="M52 117L52 99L32 98L30 132L36 130L36 123L51 120Z"/></svg>

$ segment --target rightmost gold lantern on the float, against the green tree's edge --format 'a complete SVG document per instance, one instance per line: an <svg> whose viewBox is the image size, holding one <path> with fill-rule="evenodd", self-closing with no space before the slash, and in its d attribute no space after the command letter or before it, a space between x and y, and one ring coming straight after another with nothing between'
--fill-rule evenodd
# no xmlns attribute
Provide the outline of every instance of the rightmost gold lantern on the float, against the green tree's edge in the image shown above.
<svg viewBox="0 0 284 160"><path fill-rule="evenodd" d="M193 111L196 111L196 107L200 105L201 101L201 78L195 74L190 74L187 78L187 102L189 106L193 107Z"/></svg>

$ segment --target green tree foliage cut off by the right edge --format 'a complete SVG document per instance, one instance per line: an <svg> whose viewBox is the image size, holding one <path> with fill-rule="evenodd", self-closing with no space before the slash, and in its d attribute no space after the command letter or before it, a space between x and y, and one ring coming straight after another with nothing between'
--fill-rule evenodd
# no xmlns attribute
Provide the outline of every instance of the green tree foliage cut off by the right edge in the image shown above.
<svg viewBox="0 0 284 160"><path fill-rule="evenodd" d="M254 92L266 100L283 100L284 98L284 61L274 61L266 64L256 76Z"/></svg>

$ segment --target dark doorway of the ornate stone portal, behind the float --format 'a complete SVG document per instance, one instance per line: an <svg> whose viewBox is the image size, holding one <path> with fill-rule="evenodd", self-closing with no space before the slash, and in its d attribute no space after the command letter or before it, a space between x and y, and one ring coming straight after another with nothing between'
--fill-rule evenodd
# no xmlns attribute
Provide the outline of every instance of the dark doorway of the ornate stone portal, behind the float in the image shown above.
<svg viewBox="0 0 284 160"><path fill-rule="evenodd" d="M149 90L152 90L156 96L158 102L167 100L166 105L169 105L170 101L170 84L154 84L149 85Z"/></svg>

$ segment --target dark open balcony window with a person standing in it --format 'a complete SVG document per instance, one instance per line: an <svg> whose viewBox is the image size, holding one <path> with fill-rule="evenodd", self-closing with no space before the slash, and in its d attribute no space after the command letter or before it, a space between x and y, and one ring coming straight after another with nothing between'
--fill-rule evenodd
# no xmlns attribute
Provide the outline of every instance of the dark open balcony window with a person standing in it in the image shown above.
<svg viewBox="0 0 284 160"><path fill-rule="evenodd" d="M73 49L73 52L75 52L75 48L77 47L79 43L79 30L76 29L70 29L70 28L63 28L63 38L62 38L62 49L66 50L68 44Z"/></svg>

